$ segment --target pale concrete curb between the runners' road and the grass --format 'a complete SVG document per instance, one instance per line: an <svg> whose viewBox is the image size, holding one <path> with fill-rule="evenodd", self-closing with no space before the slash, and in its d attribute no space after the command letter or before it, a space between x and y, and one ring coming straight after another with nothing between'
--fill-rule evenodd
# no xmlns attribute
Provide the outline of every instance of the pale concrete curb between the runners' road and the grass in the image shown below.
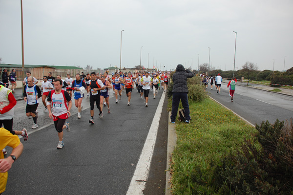
<svg viewBox="0 0 293 195"><path fill-rule="evenodd" d="M171 112L169 111L168 120L171 116ZM167 140L167 167L166 167L166 187L165 187L165 194L166 195L172 195L171 193L171 174L170 174L170 159L172 157L172 152L175 149L176 146L176 130L175 130L175 124L168 122L168 140Z"/></svg>

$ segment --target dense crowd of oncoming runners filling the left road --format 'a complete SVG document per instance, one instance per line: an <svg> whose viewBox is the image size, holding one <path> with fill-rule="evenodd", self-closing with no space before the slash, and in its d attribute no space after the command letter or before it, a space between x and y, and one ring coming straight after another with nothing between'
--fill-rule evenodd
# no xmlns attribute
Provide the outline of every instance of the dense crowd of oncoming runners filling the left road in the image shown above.
<svg viewBox="0 0 293 195"><path fill-rule="evenodd" d="M9 77L10 78L10 77ZM144 99L144 105L148 107L149 91L153 92L151 98L156 98L158 91L166 91L168 86L169 72L113 72L109 75L96 74L95 72L76 74L75 79L67 74L66 78L57 78L49 72L48 76L43 76L41 88L36 84L39 82L30 72L26 72L26 77L23 80L24 101L26 102L25 113L27 117L32 116L32 129L38 128L38 106L39 98L42 97L44 105L43 112L48 112L48 117L53 119L55 129L58 132L59 142L57 149L64 146L63 130L70 131L69 122L66 119L71 115L72 102L78 110L77 119L81 118L82 102L84 97L89 96L86 101L90 105L89 123L94 124L94 107L98 108L99 118L104 117L103 107L107 107L107 113L110 113L109 93L115 93L115 101L111 102L118 104L126 93L127 105L130 106L131 94L136 91L140 94L139 98ZM13 95L14 88L8 89L8 82L0 82L0 127L4 128L12 134L21 135L24 141L27 141L27 130L13 130L14 106L16 100ZM14 86L13 86L14 87ZM7 152L3 149L3 154Z"/></svg>

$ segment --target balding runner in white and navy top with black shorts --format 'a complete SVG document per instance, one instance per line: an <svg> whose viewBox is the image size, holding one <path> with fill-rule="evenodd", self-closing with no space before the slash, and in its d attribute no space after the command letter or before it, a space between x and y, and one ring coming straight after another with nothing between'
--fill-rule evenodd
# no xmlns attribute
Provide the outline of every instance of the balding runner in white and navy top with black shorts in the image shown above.
<svg viewBox="0 0 293 195"><path fill-rule="evenodd" d="M42 96L39 86L36 86L33 83L33 77L30 76L27 78L27 85L24 86L24 101L26 102L25 113L26 116L32 116L34 124L32 129L39 127L37 125L38 111L39 106L38 99Z"/></svg>

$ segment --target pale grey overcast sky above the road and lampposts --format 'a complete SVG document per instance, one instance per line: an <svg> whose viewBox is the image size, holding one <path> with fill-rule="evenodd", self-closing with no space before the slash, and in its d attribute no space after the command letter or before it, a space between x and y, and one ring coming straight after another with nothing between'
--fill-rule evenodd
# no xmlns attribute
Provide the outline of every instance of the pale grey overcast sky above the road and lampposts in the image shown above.
<svg viewBox="0 0 293 195"><path fill-rule="evenodd" d="M235 70L247 61L259 70L282 71L284 60L285 70L293 67L293 0L23 0L22 6L27 65L120 67L121 51L122 67L209 63L233 70L235 31ZM0 0L0 58L21 64L21 0Z"/></svg>

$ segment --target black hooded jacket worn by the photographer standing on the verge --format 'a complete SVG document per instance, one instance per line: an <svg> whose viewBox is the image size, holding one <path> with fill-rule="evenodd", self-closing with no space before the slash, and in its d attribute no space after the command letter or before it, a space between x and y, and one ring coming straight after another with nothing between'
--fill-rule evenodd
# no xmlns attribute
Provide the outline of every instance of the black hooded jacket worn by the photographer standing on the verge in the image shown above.
<svg viewBox="0 0 293 195"><path fill-rule="evenodd" d="M176 72L172 76L172 93L188 93L187 79L192 77L194 74L189 69L185 70L183 65L177 65Z"/></svg>

